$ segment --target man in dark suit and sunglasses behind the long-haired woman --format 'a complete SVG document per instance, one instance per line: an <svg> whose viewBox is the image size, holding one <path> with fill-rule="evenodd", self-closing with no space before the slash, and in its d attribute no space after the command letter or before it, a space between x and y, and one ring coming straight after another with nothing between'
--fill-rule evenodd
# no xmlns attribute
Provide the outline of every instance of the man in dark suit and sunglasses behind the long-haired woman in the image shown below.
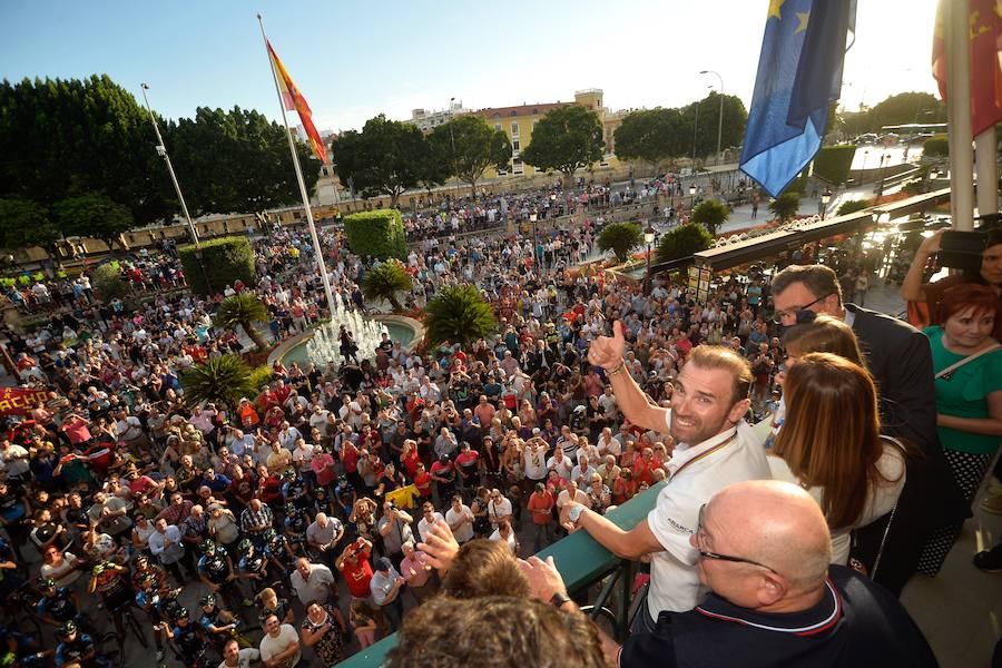
<svg viewBox="0 0 1002 668"><path fill-rule="evenodd" d="M798 311L813 311L842 318L853 328L880 391L884 433L922 451L922 455L908 458L907 479L892 513L886 541L884 532L891 517L858 530L853 551L870 569L880 553L874 580L898 596L915 570L929 532L970 515L949 473L936 433L929 340L897 318L843 304L838 277L826 266L786 267L773 278L772 294L775 320L783 326L796 324Z"/></svg>

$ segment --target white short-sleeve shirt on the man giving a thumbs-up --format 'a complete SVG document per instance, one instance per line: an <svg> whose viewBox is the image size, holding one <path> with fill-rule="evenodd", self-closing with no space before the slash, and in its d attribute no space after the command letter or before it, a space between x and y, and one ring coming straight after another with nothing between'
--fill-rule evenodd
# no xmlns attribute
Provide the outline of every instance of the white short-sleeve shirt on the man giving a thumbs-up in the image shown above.
<svg viewBox="0 0 1002 668"><path fill-rule="evenodd" d="M669 423L670 415L669 411ZM704 454L728 441L719 450ZM691 610L706 595L696 568L698 552L689 544L699 522L699 508L729 484L772 478L762 442L745 421L698 445L679 443L665 468L668 484L647 515L651 532L665 548L664 552L651 554L650 561L647 607L654 620L662 610Z"/></svg>

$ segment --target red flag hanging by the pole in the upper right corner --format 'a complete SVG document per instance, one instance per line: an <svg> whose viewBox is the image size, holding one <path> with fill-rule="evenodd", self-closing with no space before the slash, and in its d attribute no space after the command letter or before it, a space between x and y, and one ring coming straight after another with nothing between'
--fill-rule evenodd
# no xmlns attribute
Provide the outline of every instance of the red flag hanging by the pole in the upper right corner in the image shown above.
<svg viewBox="0 0 1002 668"><path fill-rule="evenodd" d="M947 0L949 1L949 0ZM933 33L933 77L946 99L946 40L943 3L936 9ZM976 137L1002 121L1002 7L999 0L970 0L971 126Z"/></svg>

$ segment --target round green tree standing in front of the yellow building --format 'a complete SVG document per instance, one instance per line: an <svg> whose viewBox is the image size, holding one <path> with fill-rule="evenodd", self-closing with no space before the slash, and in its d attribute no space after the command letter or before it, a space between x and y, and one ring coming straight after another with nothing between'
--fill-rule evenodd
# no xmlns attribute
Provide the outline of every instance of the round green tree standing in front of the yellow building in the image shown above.
<svg viewBox="0 0 1002 668"><path fill-rule="evenodd" d="M556 169L564 179L602 159L602 121L580 105L548 111L532 129L532 141L522 160L543 171Z"/></svg>

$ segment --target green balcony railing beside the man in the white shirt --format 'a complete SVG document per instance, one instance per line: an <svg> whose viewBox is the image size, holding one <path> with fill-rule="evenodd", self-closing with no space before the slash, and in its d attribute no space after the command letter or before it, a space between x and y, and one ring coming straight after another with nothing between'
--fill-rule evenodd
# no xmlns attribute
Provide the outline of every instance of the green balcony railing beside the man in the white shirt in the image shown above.
<svg viewBox="0 0 1002 668"><path fill-rule="evenodd" d="M609 511L606 515L617 527L630 530L647 517L655 507L658 492L665 485L659 482L642 494L638 494L622 505ZM552 556L571 596L580 595L588 587L605 579L605 583L591 603L592 618L611 613L616 620L616 636L621 641L630 620L630 587L632 562L620 559L587 532L571 533L538 553L540 559ZM616 584L619 584L619 597L616 611L611 612L606 602L612 597ZM396 635L383 638L372 647L352 655L337 664L338 668L374 668L382 666L386 654L396 645Z"/></svg>

